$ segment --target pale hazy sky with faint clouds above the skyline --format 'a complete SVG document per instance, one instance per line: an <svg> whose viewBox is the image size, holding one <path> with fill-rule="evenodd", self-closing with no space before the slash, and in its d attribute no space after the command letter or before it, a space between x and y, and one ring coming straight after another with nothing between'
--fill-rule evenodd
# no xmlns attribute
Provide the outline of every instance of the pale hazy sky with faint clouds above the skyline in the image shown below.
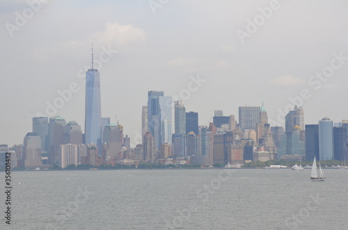
<svg viewBox="0 0 348 230"><path fill-rule="evenodd" d="M70 84L79 90L54 115L84 129L92 43L103 61L102 116L116 123L117 114L133 145L148 90L181 93L205 125L214 110L238 117L238 106L262 100L281 124L301 91L306 124L348 119L347 1L40 2L32 10L24 0L0 1L0 143L22 143L32 117L47 114ZM205 82L197 89L190 76L198 75Z"/></svg>

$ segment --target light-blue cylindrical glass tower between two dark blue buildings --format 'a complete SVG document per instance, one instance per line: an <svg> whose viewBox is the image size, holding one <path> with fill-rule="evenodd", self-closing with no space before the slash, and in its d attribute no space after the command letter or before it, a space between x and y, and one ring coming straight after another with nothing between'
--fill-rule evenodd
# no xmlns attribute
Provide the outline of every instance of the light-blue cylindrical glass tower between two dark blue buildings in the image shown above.
<svg viewBox="0 0 348 230"><path fill-rule="evenodd" d="M319 121L319 159L333 160L333 121L328 117Z"/></svg>

